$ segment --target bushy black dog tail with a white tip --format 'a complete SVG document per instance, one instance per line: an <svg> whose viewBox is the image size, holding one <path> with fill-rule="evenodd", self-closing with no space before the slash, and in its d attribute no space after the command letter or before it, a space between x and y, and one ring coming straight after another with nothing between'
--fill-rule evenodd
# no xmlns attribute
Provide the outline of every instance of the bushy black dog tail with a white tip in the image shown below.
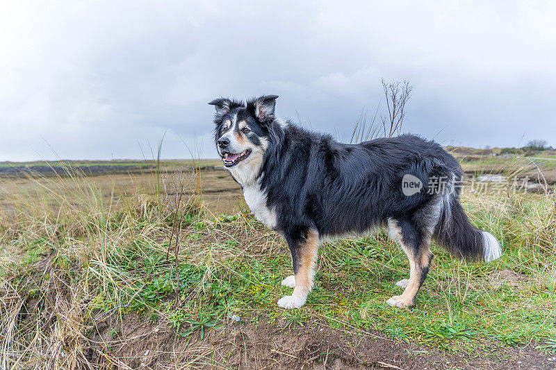
<svg viewBox="0 0 556 370"><path fill-rule="evenodd" d="M471 224L459 204L457 191L443 195L441 205L441 215L433 235L438 244L457 258L486 262L500 258L502 249L498 239Z"/></svg>

